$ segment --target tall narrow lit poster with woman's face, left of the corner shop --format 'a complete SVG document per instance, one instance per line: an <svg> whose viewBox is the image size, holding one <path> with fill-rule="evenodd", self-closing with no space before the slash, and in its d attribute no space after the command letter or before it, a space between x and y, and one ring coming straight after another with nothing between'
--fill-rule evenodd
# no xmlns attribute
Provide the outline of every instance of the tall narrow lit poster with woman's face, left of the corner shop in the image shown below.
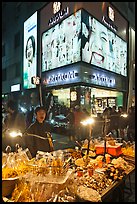
<svg viewBox="0 0 137 204"><path fill-rule="evenodd" d="M31 77L37 74L37 12L24 22L24 89L35 88Z"/></svg>

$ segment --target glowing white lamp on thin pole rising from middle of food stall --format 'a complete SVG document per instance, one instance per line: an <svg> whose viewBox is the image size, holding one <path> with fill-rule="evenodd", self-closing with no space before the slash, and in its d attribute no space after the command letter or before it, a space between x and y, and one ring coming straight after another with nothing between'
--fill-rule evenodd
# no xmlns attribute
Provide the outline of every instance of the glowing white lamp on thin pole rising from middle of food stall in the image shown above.
<svg viewBox="0 0 137 204"><path fill-rule="evenodd" d="M87 147L87 155L86 155L86 166L88 164L89 146L90 146L92 124L93 123L94 123L94 119L93 118L87 118L86 120L81 121L82 125L84 125L84 126L89 125L89 138L88 138L88 147Z"/></svg>

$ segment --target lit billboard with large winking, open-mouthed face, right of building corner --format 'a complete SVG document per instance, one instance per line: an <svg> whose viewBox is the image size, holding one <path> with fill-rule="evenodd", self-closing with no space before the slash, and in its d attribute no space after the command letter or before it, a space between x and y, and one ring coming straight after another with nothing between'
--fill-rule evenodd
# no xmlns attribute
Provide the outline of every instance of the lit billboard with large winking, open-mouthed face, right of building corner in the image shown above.
<svg viewBox="0 0 137 204"><path fill-rule="evenodd" d="M82 12L82 61L127 76L127 43Z"/></svg>

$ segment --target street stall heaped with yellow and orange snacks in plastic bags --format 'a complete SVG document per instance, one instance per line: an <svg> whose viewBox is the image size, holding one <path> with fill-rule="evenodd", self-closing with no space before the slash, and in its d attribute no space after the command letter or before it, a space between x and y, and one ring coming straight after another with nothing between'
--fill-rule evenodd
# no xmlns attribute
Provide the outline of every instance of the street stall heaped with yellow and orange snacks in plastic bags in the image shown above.
<svg viewBox="0 0 137 204"><path fill-rule="evenodd" d="M79 149L3 152L2 196L5 202L105 202L135 170L135 144L113 138L85 139ZM88 151L87 151L88 148ZM88 155L87 155L88 152Z"/></svg>

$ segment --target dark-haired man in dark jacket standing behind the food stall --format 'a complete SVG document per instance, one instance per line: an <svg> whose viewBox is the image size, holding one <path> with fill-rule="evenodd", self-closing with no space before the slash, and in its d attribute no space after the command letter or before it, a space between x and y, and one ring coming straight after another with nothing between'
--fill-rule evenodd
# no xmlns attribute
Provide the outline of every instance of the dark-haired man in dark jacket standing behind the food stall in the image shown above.
<svg viewBox="0 0 137 204"><path fill-rule="evenodd" d="M35 109L36 120L26 130L24 137L25 145L29 148L32 157L35 157L37 151L51 152L53 151L52 136L50 134L50 126L46 123L46 109L38 106ZM38 137L37 137L38 136ZM39 138L42 137L42 138Z"/></svg>

